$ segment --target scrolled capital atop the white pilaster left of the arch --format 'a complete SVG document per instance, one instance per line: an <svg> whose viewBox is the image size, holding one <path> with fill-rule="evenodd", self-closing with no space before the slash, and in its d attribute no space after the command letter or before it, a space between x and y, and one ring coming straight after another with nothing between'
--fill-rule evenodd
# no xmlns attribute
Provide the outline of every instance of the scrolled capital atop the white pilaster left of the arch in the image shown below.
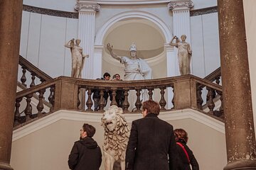
<svg viewBox="0 0 256 170"><path fill-rule="evenodd" d="M79 12L80 11L100 11L100 5L78 0L78 3L75 4L75 10Z"/></svg>

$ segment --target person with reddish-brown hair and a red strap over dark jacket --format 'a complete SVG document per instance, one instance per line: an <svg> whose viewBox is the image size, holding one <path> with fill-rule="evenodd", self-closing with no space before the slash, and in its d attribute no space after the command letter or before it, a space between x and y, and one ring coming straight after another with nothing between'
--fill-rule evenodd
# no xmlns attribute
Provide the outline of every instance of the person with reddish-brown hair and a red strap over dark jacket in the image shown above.
<svg viewBox="0 0 256 170"><path fill-rule="evenodd" d="M177 170L199 170L198 162L193 152L186 145L188 133L183 129L174 130L178 150L178 169ZM190 166L191 165L191 166Z"/></svg>

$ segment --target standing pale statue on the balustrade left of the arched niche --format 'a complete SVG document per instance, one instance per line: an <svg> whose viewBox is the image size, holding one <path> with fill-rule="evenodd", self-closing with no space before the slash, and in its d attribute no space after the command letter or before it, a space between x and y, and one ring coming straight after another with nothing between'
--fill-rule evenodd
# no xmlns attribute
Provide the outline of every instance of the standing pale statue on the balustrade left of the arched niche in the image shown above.
<svg viewBox="0 0 256 170"><path fill-rule="evenodd" d="M82 47L80 47L80 39L72 39L65 44L65 47L70 48L72 57L71 77L82 78L82 68L85 64L85 57L89 55L82 54Z"/></svg>

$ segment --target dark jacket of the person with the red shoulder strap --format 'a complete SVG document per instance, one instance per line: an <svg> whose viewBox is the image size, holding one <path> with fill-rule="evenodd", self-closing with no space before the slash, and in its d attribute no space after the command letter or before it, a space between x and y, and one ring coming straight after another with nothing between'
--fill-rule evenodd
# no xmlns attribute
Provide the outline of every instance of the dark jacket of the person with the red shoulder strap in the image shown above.
<svg viewBox="0 0 256 170"><path fill-rule="evenodd" d="M186 145L186 142L184 140L178 140L178 142L183 145L183 147L186 149L186 152L188 152L188 157L190 159L190 164L192 167L192 170L199 170L198 162L196 161L196 157L193 155L193 152L191 149L188 148ZM186 154L181 146L177 144L177 150L178 150L178 170L191 170L191 167L188 162L188 158L186 157Z"/></svg>

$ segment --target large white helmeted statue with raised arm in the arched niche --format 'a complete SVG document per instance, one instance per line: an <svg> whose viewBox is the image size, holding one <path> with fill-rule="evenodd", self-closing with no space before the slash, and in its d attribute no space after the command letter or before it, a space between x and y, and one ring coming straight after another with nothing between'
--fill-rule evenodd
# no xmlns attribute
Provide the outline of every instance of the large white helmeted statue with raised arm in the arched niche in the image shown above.
<svg viewBox="0 0 256 170"><path fill-rule="evenodd" d="M110 43L107 44L107 50L110 52L110 55L124 64L124 80L144 80L152 79L152 69L149 67L144 60L137 57L137 47L134 43L129 48L130 57L120 57L113 52L113 47ZM142 90L141 95L142 101L149 99L149 94L146 90ZM132 111L135 108L135 102L137 100L136 91L129 91L128 101L129 101L129 111Z"/></svg>

